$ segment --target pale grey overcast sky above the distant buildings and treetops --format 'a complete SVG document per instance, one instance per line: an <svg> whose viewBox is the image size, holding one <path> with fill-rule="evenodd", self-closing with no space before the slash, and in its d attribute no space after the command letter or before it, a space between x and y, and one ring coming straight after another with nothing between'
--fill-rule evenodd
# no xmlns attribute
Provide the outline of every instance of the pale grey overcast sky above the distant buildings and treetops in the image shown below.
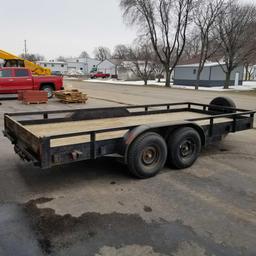
<svg viewBox="0 0 256 256"><path fill-rule="evenodd" d="M136 29L123 23L119 0L1 1L0 24L0 49L20 54L26 39L30 53L46 58L78 56L84 50L92 55L97 46L112 50L136 37Z"/></svg>

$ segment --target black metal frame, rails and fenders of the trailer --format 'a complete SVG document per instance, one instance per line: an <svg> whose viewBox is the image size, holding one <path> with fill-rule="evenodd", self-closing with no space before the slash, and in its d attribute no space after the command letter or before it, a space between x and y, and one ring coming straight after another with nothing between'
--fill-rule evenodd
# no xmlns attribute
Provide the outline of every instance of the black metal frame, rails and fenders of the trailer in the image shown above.
<svg viewBox="0 0 256 256"><path fill-rule="evenodd" d="M32 161L42 169L68 164L83 160L96 159L106 155L117 154L127 163L130 145L141 134L157 131L165 139L171 131L180 127L192 127L201 137L202 145L223 138L228 133L235 133L253 128L256 111L225 106L201 104L193 102L178 102L166 104L132 105L112 108L74 109L39 112L6 113L4 115L4 135L14 144L15 152L23 159ZM128 125L93 131L82 131L68 134L36 137L24 126L33 124L50 124L77 120L93 120L111 117L144 116L148 114L176 113L189 111L207 114L207 117L189 118L180 122L160 122L147 125ZM62 116L65 115L65 116ZM221 118L227 122L218 123ZM203 125L199 123L203 122ZM96 136L101 133L127 131L125 136L97 141ZM89 135L87 143L51 147L54 139Z"/></svg>

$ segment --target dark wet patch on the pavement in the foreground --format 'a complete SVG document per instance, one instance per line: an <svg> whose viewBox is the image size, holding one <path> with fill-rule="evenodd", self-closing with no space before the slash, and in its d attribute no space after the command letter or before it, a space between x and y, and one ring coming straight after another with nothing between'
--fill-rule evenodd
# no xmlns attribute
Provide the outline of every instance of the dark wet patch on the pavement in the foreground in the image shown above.
<svg viewBox="0 0 256 256"><path fill-rule="evenodd" d="M119 213L61 216L53 209L37 207L49 200L52 199L39 198L24 205L38 244L46 255L94 256L104 246L121 248L135 244L150 246L159 254L175 255L184 241L198 245L209 255L239 255L237 248L223 247L209 237L200 237L179 220L146 223L138 215Z"/></svg>

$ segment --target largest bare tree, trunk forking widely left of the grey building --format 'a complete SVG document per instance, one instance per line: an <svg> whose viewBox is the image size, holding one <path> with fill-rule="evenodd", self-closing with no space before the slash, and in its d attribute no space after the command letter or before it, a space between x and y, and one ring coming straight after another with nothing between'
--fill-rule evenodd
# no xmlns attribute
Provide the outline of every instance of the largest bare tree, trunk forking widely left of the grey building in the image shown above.
<svg viewBox="0 0 256 256"><path fill-rule="evenodd" d="M193 0L120 0L124 17L151 40L165 68L166 86L186 42Z"/></svg>

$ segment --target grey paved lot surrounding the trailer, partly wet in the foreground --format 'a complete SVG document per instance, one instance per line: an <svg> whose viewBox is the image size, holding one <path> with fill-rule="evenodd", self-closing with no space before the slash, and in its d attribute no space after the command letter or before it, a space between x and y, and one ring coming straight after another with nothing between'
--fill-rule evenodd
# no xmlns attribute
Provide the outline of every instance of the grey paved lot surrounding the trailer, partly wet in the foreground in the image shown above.
<svg viewBox="0 0 256 256"><path fill-rule="evenodd" d="M208 103L219 95L66 82L70 85L88 92L88 108ZM256 109L255 97L230 96L239 107ZM47 106L2 103L1 129L4 112L84 107L55 100ZM0 255L13 255L14 247L20 255L38 255L38 250L83 256L255 255L255 166L256 130L230 135L204 149L187 170L165 168L149 180L133 179L126 167L109 158L41 171L21 162L0 135L0 213L14 216L5 220L0 214ZM17 232L27 234L20 248ZM13 244L4 242L6 237Z"/></svg>

